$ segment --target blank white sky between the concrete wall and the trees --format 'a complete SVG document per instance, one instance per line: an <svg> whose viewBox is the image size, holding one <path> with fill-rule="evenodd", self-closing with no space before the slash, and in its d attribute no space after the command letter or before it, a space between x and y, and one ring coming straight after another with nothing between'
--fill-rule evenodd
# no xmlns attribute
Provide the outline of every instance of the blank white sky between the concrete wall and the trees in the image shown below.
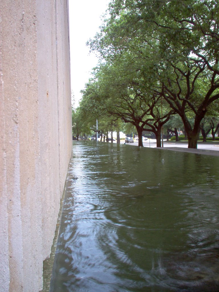
<svg viewBox="0 0 219 292"><path fill-rule="evenodd" d="M76 100L81 99L80 90L91 77L92 68L98 64L95 54L89 53L86 42L93 38L101 25L110 0L69 0L69 34L71 60L71 87Z"/></svg>

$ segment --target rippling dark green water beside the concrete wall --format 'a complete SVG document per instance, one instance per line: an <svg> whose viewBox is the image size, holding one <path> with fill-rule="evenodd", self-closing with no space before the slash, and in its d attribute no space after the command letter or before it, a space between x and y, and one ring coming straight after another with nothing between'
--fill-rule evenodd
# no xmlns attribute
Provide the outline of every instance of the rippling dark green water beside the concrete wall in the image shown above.
<svg viewBox="0 0 219 292"><path fill-rule="evenodd" d="M51 292L219 291L219 159L73 142Z"/></svg>

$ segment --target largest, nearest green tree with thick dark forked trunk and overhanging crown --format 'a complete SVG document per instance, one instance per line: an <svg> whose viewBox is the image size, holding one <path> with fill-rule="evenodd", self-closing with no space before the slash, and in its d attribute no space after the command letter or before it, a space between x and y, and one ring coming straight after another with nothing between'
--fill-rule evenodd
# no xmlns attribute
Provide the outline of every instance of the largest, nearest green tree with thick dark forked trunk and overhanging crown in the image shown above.
<svg viewBox="0 0 219 292"><path fill-rule="evenodd" d="M91 48L110 62L128 51L141 72L149 64L154 91L182 118L188 147L197 148L201 120L219 98L217 1L113 0L109 15Z"/></svg>

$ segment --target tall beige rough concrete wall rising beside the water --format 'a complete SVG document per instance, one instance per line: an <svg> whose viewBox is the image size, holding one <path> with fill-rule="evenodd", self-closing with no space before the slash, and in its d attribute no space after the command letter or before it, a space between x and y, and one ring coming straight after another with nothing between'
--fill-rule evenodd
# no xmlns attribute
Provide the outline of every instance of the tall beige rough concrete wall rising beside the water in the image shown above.
<svg viewBox="0 0 219 292"><path fill-rule="evenodd" d="M40 291L72 148L68 1L0 1L0 292Z"/></svg>

